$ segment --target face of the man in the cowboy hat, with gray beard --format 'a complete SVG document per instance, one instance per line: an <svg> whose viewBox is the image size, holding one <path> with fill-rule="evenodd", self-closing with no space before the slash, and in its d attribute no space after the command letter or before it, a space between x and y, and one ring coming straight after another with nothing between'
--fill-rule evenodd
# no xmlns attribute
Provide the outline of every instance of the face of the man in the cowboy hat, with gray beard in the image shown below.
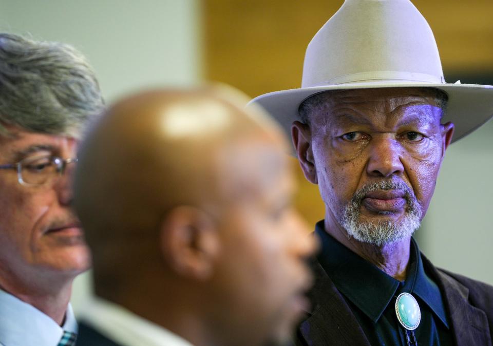
<svg viewBox="0 0 493 346"><path fill-rule="evenodd" d="M328 222L376 245L409 237L428 208L453 125L441 125L442 110L418 88L344 90L325 100L310 113L308 137Z"/></svg>

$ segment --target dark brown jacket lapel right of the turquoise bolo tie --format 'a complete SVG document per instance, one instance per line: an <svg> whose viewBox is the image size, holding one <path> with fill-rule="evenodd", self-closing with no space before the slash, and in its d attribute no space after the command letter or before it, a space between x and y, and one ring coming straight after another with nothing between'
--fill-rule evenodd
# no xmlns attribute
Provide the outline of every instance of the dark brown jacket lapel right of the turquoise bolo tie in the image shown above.
<svg viewBox="0 0 493 346"><path fill-rule="evenodd" d="M488 319L482 310L469 304L469 289L451 276L437 270L424 255L422 258L423 264L438 279L437 283L444 294L452 333L457 344L491 346Z"/></svg>

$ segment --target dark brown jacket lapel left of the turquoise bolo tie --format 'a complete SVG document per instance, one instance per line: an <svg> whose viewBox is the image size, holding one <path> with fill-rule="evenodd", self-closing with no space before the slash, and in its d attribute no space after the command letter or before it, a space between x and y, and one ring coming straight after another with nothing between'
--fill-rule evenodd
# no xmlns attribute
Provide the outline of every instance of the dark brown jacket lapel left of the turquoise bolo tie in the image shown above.
<svg viewBox="0 0 493 346"><path fill-rule="evenodd" d="M370 345L343 296L318 262L313 265L316 283L309 296L313 313L299 332L312 345Z"/></svg>

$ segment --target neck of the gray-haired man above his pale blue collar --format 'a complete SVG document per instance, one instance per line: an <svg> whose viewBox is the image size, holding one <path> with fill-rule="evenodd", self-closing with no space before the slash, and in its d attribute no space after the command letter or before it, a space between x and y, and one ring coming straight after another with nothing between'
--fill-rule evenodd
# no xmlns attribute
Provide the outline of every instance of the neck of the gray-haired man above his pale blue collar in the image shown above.
<svg viewBox="0 0 493 346"><path fill-rule="evenodd" d="M37 287L36 287L37 288ZM36 290L31 287L21 287L8 282L0 283L0 289L15 296L23 302L34 306L37 310L49 316L59 325L65 320L65 312L72 292L72 280L51 290Z"/></svg>

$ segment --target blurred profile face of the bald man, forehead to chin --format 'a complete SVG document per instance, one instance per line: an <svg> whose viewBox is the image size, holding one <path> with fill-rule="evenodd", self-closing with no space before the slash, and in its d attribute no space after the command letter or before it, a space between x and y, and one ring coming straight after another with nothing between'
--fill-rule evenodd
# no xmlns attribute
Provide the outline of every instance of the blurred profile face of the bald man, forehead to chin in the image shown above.
<svg viewBox="0 0 493 346"><path fill-rule="evenodd" d="M305 260L315 239L291 204L293 177L287 155L265 143L249 143L227 160L223 175L234 202L222 214L224 263L217 273L221 309L230 331L247 344L285 340L304 309L311 284ZM234 177L229 180L228 177ZM250 342L250 343L249 343Z"/></svg>

